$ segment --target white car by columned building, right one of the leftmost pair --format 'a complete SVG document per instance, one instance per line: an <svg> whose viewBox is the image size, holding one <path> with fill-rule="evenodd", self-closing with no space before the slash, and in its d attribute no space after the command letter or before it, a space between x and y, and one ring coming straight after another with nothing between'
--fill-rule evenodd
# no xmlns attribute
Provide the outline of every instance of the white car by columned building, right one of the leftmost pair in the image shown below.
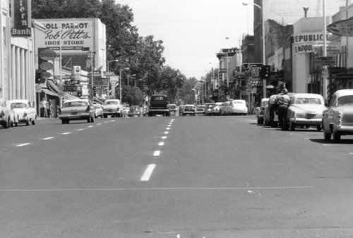
<svg viewBox="0 0 353 238"><path fill-rule="evenodd" d="M25 123L25 125L30 125L31 123L35 125L37 110L31 106L29 100L16 99L10 100L8 103L11 104L11 108L15 113L15 126L18 126L18 123Z"/></svg>

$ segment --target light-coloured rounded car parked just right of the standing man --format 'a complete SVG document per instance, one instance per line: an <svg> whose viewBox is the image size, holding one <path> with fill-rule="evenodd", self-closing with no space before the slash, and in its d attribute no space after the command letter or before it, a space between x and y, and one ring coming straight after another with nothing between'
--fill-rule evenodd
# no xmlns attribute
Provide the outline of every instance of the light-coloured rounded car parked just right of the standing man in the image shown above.
<svg viewBox="0 0 353 238"><path fill-rule="evenodd" d="M285 130L295 130L295 127L315 126L318 131L322 128L325 101L320 94L293 94L287 109L287 123Z"/></svg>

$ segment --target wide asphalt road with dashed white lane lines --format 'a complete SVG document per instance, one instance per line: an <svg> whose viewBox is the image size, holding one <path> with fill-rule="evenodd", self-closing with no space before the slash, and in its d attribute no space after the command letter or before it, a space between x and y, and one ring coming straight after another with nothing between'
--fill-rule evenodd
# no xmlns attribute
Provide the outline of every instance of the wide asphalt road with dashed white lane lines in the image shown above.
<svg viewBox="0 0 353 238"><path fill-rule="evenodd" d="M352 237L353 137L249 116L0 129L0 237Z"/></svg>

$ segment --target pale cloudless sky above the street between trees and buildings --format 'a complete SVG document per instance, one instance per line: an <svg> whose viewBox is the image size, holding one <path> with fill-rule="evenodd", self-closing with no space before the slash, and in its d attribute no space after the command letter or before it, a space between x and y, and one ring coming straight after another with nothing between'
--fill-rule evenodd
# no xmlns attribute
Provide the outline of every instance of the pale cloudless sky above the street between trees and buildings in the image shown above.
<svg viewBox="0 0 353 238"><path fill-rule="evenodd" d="M243 35L253 35L250 0L115 0L133 11L142 37L162 40L166 65L187 78L218 68L216 53L240 48ZM229 39L226 39L229 37Z"/></svg>

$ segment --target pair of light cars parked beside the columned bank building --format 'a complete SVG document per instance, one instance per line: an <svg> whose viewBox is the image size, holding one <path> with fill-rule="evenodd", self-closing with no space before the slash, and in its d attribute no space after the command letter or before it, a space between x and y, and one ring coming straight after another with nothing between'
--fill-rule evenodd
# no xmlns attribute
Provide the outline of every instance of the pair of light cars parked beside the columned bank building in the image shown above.
<svg viewBox="0 0 353 238"><path fill-rule="evenodd" d="M18 124L35 125L37 111L28 100L0 99L0 125L4 128L17 127Z"/></svg>

